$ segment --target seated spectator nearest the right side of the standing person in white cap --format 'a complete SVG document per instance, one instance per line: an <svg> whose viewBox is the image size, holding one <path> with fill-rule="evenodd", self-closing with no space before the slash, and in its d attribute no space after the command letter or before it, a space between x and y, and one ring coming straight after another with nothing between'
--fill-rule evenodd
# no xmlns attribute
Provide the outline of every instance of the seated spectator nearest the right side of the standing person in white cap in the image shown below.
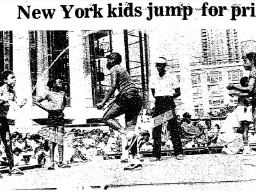
<svg viewBox="0 0 256 192"><path fill-rule="evenodd" d="M198 122L192 122L191 115L188 112L183 114L181 129L185 147L191 148L193 145L192 141L206 143L204 127L198 124Z"/></svg>

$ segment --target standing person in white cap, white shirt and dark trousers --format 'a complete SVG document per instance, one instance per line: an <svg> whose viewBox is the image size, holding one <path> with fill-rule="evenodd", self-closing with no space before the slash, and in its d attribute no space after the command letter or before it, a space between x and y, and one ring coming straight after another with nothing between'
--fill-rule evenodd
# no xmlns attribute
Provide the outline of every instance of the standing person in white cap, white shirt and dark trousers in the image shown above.
<svg viewBox="0 0 256 192"><path fill-rule="evenodd" d="M158 73L150 77L149 87L155 97L154 128L153 128L153 157L150 161L161 159L161 130L163 121L168 122L167 129L172 137L173 148L177 159L182 160L182 142L180 140L179 126L176 120L175 102L173 99L180 96L179 81L175 74L167 72L167 60L163 57L154 62Z"/></svg>

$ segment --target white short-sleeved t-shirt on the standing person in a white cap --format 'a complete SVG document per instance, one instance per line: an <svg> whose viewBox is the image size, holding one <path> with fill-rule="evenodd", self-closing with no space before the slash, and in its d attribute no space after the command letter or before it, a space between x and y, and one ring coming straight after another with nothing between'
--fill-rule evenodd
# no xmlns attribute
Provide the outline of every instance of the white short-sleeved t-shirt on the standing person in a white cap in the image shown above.
<svg viewBox="0 0 256 192"><path fill-rule="evenodd" d="M152 74L149 81L149 87L155 89L155 97L172 96L175 88L179 88L179 81L175 74L166 72L163 77L159 74Z"/></svg>

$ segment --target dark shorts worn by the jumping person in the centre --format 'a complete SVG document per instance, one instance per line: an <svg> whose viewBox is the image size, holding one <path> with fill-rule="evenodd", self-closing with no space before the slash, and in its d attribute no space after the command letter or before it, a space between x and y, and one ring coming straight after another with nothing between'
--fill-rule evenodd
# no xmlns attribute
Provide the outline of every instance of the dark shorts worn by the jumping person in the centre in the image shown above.
<svg viewBox="0 0 256 192"><path fill-rule="evenodd" d="M118 94L115 103L124 111L126 120L136 118L142 108L142 99L138 92Z"/></svg>

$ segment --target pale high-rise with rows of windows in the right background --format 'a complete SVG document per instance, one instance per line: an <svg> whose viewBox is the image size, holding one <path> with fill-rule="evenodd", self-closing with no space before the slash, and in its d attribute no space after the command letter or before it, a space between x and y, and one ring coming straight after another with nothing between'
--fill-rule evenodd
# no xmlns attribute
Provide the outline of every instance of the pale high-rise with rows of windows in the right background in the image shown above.
<svg viewBox="0 0 256 192"><path fill-rule="evenodd" d="M192 56L191 83L195 118L223 116L237 104L227 85L243 77L241 50L236 29L201 29L202 54ZM195 61L197 58L197 61Z"/></svg>

